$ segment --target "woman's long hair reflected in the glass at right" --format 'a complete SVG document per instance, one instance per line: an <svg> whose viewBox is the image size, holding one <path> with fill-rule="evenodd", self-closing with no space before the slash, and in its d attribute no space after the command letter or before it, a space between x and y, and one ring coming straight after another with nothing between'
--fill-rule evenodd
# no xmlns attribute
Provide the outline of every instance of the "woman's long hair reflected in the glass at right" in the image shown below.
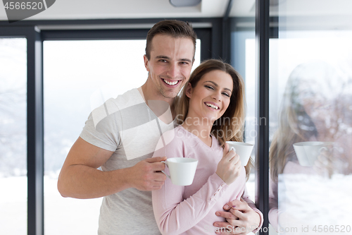
<svg viewBox="0 0 352 235"><path fill-rule="evenodd" d="M300 64L291 72L280 107L278 128L270 145L270 176L273 181L277 181L278 175L283 173L287 162L298 161L294 143L318 137L318 130L307 114L303 100L315 99L317 94L322 94L319 85L314 86L314 83L325 84L335 74L334 68L323 61Z"/></svg>

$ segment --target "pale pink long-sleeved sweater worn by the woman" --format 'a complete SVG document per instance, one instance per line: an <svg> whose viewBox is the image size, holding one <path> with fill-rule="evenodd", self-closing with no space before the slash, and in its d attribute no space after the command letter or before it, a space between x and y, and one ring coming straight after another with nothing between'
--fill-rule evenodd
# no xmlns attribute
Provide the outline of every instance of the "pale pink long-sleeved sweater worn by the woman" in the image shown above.
<svg viewBox="0 0 352 235"><path fill-rule="evenodd" d="M246 193L244 167L230 186L215 173L223 149L218 140L212 138L209 147L196 135L177 126L159 140L153 157L189 157L199 161L190 186L176 186L166 179L163 188L152 191L154 216L162 234L215 234L213 223L225 222L225 218L216 216L215 212L241 197L259 213L260 227L263 224L263 215ZM165 172L169 174L168 167Z"/></svg>

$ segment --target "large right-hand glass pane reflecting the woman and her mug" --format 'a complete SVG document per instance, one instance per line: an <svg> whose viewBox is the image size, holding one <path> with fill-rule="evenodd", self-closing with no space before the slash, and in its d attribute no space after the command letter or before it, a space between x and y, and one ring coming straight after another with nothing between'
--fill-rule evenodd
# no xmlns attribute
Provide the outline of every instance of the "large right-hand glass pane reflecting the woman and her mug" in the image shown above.
<svg viewBox="0 0 352 235"><path fill-rule="evenodd" d="M351 234L352 2L338 2L276 9L269 220L279 234Z"/></svg>

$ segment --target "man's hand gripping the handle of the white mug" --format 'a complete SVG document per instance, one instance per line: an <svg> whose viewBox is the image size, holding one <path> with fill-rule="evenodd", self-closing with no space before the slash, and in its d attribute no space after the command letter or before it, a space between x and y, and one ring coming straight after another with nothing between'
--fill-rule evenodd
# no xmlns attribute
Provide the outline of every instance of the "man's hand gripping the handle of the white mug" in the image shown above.
<svg viewBox="0 0 352 235"><path fill-rule="evenodd" d="M138 162L128 169L130 186L141 191L152 191L160 189L166 179L163 171L166 157L151 157Z"/></svg>

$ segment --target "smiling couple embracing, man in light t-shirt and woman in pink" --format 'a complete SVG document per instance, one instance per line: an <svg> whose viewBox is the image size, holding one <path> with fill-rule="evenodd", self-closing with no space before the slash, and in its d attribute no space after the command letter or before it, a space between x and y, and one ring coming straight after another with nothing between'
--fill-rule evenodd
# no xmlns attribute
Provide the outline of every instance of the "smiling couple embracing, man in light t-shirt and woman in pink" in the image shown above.
<svg viewBox="0 0 352 235"><path fill-rule="evenodd" d="M64 197L104 197L99 234L160 234L158 226L164 234L182 234L187 230L191 234L215 234L215 230L218 234L247 234L263 223L263 215L244 191L245 172L238 155L224 145L225 140L241 140L242 126L222 126L232 128L228 129L230 133L237 135L218 138L216 131L210 135L212 123L192 123L201 117L210 121L220 116L243 117L244 101L237 98L244 95L243 83L231 66L215 60L203 62L187 83L195 44L196 34L188 23L177 20L156 23L146 38L144 65L149 72L146 83L94 109L68 153L58 190ZM175 97L186 83L175 105ZM166 157L155 153L153 157L162 133L174 128L179 109L190 120L175 131L184 131L191 138L189 141L175 138L175 141L184 141L184 147L190 151L188 142L198 141L203 145L193 149L194 158L204 159L199 161L197 169L203 171L206 180L200 189L196 189L200 183L195 179L189 191L186 187L180 191L161 173L165 169L161 161L175 157L175 153ZM196 139L192 130L205 130L208 134ZM165 150L169 147L180 152L178 145L167 145ZM163 211L165 204L154 203L155 218L151 192L153 201L172 195L172 203L176 205L169 208L171 205L167 203L170 210ZM179 202L174 200L176 196ZM200 221L207 226L197 227ZM248 231L248 228L253 229Z"/></svg>

